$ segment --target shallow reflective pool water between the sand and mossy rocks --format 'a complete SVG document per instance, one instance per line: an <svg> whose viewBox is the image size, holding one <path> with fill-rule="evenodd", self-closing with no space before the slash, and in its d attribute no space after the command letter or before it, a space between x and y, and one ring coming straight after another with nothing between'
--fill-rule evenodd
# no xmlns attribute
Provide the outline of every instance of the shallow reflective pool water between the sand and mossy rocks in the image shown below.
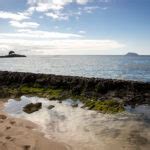
<svg viewBox="0 0 150 150"><path fill-rule="evenodd" d="M28 103L42 102L42 109L26 114L22 108ZM71 107L72 100L62 103L38 97L21 97L21 101L10 99L5 104L7 113L24 118L39 125L48 138L61 141L73 150L149 150L150 108L127 107L117 115ZM55 105L48 110L49 105Z"/></svg>

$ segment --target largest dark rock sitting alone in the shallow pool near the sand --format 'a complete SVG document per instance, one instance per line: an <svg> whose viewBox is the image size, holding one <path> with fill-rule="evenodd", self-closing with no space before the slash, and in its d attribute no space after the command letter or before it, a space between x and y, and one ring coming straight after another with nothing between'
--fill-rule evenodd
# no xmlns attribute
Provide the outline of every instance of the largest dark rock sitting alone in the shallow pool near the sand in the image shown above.
<svg viewBox="0 0 150 150"><path fill-rule="evenodd" d="M28 113L28 114L31 114L35 111L38 111L39 109L42 108L42 103L30 103L30 104L27 104L25 107L23 107L23 111Z"/></svg>

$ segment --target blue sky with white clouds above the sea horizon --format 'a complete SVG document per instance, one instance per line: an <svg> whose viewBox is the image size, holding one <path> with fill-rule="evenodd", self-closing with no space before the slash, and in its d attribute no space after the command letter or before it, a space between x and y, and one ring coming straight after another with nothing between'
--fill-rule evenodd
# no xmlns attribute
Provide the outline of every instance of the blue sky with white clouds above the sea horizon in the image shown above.
<svg viewBox="0 0 150 150"><path fill-rule="evenodd" d="M150 0L0 0L0 54L150 55Z"/></svg>

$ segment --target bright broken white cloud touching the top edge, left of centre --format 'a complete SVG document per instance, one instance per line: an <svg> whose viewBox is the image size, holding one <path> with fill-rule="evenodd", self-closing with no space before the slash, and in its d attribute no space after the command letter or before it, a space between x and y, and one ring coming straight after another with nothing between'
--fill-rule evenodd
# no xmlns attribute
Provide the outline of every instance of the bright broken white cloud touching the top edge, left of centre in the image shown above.
<svg viewBox="0 0 150 150"><path fill-rule="evenodd" d="M28 0L29 10L43 12L46 16L56 20L67 20L70 16L81 15L81 12L66 12L65 6L71 3L84 5L91 0Z"/></svg>

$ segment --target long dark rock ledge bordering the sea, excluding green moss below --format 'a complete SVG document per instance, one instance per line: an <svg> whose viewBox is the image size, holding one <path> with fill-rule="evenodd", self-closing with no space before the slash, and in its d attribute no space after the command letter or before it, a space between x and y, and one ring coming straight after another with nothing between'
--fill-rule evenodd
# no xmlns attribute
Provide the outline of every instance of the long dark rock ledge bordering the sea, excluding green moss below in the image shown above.
<svg viewBox="0 0 150 150"><path fill-rule="evenodd" d="M87 98L123 99L126 104L150 104L150 83L101 78L0 71L0 89L20 86L63 89ZM3 96L0 90L0 96Z"/></svg>

